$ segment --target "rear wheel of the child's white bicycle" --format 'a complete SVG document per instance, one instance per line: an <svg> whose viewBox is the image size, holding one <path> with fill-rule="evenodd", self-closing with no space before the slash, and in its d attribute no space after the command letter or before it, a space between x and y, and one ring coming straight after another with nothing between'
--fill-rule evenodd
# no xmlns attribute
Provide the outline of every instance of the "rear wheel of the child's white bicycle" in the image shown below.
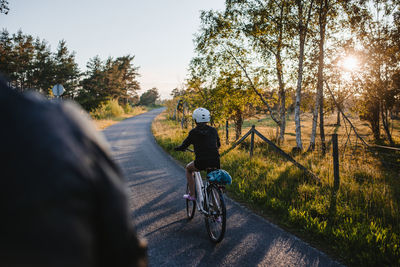
<svg viewBox="0 0 400 267"><path fill-rule="evenodd" d="M219 243L224 238L226 229L226 207L224 197L218 186L212 184L207 188L205 223L208 236L214 243Z"/></svg>

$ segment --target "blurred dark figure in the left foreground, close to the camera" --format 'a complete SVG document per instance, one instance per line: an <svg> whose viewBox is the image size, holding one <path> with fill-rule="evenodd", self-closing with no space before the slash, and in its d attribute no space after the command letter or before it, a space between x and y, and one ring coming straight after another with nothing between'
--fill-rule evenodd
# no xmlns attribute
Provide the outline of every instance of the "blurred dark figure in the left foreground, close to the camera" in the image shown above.
<svg viewBox="0 0 400 267"><path fill-rule="evenodd" d="M0 266L146 266L121 174L72 103L0 81Z"/></svg>

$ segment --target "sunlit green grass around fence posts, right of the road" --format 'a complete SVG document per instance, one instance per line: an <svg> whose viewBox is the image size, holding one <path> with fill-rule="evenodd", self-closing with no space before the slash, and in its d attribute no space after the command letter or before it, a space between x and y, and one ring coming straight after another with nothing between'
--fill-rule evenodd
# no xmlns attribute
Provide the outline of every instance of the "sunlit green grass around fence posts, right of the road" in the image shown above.
<svg viewBox="0 0 400 267"><path fill-rule="evenodd" d="M173 151L188 130L181 130L165 115L154 121L153 133L177 160L193 159L192 153ZM332 210L330 155L296 156L321 178L316 183L260 141L252 159L247 147L242 145L221 158L222 167L233 177L229 196L349 266L400 266L399 172L386 168L379 153L356 148L341 151L341 184ZM221 151L227 148L224 145ZM400 158L392 155L396 157Z"/></svg>

